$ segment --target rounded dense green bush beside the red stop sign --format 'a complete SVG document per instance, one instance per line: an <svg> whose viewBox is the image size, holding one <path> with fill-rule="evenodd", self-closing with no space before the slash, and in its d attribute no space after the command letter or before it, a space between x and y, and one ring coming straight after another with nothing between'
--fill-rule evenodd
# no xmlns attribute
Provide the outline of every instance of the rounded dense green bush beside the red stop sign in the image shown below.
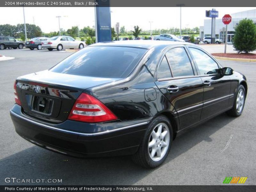
<svg viewBox="0 0 256 192"><path fill-rule="evenodd" d="M239 21L235 27L233 46L238 53L256 50L256 25L253 20L245 18Z"/></svg>

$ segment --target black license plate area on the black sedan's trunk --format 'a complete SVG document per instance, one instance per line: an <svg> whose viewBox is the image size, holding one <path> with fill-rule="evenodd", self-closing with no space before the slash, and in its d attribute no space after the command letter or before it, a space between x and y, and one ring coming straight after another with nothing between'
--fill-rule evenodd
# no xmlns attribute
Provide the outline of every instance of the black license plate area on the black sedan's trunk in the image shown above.
<svg viewBox="0 0 256 192"><path fill-rule="evenodd" d="M53 99L33 95L30 106L32 111L50 116L52 115L53 103Z"/></svg>

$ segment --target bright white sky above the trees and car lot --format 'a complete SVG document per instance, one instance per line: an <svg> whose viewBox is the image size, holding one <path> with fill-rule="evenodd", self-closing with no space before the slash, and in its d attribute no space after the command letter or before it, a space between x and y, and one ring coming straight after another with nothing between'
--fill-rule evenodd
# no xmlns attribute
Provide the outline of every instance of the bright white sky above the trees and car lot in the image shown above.
<svg viewBox="0 0 256 192"><path fill-rule="evenodd" d="M182 28L194 28L204 25L205 10L215 8L219 11L219 18L225 14L256 9L255 7L182 7L181 26ZM180 28L180 7L111 7L111 25L116 22L125 26L126 30L132 30L138 25L143 30ZM16 25L24 23L22 7L0 7L1 24ZM11 13L11 14L10 14ZM25 7L26 23L38 25L43 32L59 31L60 28L67 30L72 26L84 28L94 26L93 7Z"/></svg>

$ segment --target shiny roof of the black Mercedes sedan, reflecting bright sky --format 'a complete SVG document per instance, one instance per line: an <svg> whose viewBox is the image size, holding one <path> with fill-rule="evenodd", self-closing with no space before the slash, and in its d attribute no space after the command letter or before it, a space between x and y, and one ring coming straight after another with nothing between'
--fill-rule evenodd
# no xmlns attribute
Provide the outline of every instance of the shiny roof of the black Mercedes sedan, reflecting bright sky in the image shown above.
<svg viewBox="0 0 256 192"><path fill-rule="evenodd" d="M177 42L177 41L141 41L141 40L132 40L132 41L110 41L96 43L89 46L119 46L119 47L137 47L144 49L151 49L153 47L167 47L170 45L194 45L187 42Z"/></svg>

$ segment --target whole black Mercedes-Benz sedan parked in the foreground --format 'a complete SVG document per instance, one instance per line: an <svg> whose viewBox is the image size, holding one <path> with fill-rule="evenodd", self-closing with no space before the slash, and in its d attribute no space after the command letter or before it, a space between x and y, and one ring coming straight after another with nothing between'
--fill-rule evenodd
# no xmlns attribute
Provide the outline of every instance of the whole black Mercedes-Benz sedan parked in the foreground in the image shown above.
<svg viewBox="0 0 256 192"><path fill-rule="evenodd" d="M14 82L16 132L78 157L132 155L154 168L185 129L240 116L246 78L186 42L121 41L85 47Z"/></svg>

